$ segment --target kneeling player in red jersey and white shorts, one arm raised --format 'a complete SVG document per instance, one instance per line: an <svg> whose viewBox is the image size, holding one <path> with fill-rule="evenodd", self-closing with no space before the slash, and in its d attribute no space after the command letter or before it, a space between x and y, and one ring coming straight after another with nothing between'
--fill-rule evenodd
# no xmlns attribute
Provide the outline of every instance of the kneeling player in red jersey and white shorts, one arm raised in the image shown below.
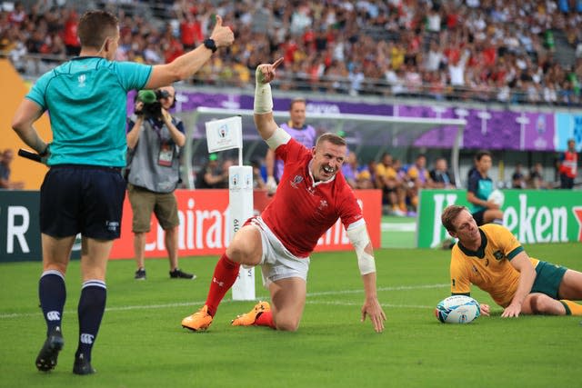
<svg viewBox="0 0 582 388"><path fill-rule="evenodd" d="M260 216L246 221L216 264L205 306L184 318L182 326L206 330L226 291L235 283L240 265L260 264L272 306L259 302L249 313L238 316L233 325L296 331L306 303L309 254L319 237L341 218L356 249L364 282L362 321L369 315L376 332L382 332L386 314L376 296L372 244L362 210L341 174L346 141L336 134L322 134L309 150L278 127L269 82L282 61L256 69L255 124L266 144L285 161L284 174L271 204Z"/></svg>

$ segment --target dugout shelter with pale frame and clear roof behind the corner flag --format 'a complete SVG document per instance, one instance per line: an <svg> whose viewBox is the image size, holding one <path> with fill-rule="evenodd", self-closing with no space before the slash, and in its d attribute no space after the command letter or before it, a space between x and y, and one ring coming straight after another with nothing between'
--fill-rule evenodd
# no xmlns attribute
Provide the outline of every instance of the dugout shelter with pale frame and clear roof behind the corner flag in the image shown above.
<svg viewBox="0 0 582 388"><path fill-rule="evenodd" d="M253 120L253 111L250 109L209 108L199 106L195 111L182 116L186 123L186 136L193 142L186 142L184 153L184 168L186 176L192 176L193 155L200 146L206 147L205 123L211 120L240 115L243 124L243 140L251 143L243 149L243 153L250 155L262 139L256 132ZM289 117L287 111L274 111L277 122ZM343 131L346 142L351 150L358 154L364 145L379 146L381 154L388 148L409 147L415 140L427 131L443 127L457 127L457 135L451 149L451 168L455 181L461 182L459 174L459 147L463 138L463 131L467 120L457 118L423 118L423 117L396 117L374 114L321 114L309 113L309 124L318 132L338 133ZM190 181L190 180L188 180ZM193 182L186 182L186 187L193 188Z"/></svg>

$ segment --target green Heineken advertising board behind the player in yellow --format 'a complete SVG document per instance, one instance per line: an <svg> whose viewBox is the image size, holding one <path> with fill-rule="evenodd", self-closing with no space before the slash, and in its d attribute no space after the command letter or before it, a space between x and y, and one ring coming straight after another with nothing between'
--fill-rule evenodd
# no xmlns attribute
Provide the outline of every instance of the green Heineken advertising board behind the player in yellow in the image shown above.
<svg viewBox="0 0 582 388"><path fill-rule="evenodd" d="M582 195L570 190L504 190L503 224L523 244L582 242ZM467 205L466 190L422 190L416 245L434 248L449 237L440 224L449 204Z"/></svg>

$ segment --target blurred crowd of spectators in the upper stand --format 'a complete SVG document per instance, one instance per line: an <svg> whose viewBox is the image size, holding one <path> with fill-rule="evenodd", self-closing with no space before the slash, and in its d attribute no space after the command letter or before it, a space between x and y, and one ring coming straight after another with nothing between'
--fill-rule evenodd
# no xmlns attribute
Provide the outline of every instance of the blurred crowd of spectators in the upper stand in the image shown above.
<svg viewBox="0 0 582 388"><path fill-rule="evenodd" d="M4 2L13 6L0 12L0 55L22 73L41 74L78 53L82 7L104 6L121 22L118 60L167 63L201 44L217 10L235 31L236 43L196 74L196 84L248 88L256 65L284 56L280 89L581 103L579 0L215 3ZM572 57L558 58L560 47Z"/></svg>

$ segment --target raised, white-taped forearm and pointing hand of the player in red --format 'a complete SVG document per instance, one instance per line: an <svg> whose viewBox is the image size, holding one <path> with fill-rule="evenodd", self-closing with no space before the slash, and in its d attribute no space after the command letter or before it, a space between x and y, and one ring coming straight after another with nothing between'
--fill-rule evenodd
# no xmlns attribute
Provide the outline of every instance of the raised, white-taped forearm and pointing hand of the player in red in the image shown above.
<svg viewBox="0 0 582 388"><path fill-rule="evenodd" d="M283 58L274 64L262 64L256 67L255 86L255 124L256 130L264 140L275 134L278 125L273 118L273 96L269 83L275 79L275 70L281 65Z"/></svg>

